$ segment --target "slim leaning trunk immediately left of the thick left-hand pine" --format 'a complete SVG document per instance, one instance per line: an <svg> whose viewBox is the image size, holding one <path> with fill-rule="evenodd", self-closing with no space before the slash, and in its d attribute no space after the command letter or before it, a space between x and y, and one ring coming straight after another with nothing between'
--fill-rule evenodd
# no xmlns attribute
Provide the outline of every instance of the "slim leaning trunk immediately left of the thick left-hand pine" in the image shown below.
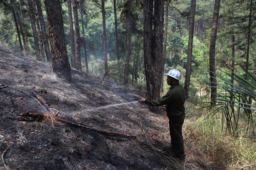
<svg viewBox="0 0 256 170"><path fill-rule="evenodd" d="M35 0L35 4L37 5L38 20L39 20L41 31L42 31L42 38L43 38L43 42L44 42L46 60L52 61L52 55L50 53L50 47L49 47L49 43L48 43L48 34L46 32L44 16L43 16L43 12L42 12L41 0Z"/></svg>

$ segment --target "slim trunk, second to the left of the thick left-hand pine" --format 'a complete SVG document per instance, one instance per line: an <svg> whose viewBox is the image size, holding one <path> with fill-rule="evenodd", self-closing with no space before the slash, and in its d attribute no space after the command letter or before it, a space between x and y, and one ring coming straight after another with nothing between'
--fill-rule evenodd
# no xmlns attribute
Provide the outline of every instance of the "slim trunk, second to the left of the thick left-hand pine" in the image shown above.
<svg viewBox="0 0 256 170"><path fill-rule="evenodd" d="M33 36L34 36L34 42L35 42L35 54L36 54L36 59L41 61L41 55L40 55L40 49L39 49L39 43L38 43L38 35L37 35L37 28L35 26L35 9L34 9L34 2L33 0L28 0L28 5L29 5L29 16L31 20L31 26L33 30Z"/></svg>

